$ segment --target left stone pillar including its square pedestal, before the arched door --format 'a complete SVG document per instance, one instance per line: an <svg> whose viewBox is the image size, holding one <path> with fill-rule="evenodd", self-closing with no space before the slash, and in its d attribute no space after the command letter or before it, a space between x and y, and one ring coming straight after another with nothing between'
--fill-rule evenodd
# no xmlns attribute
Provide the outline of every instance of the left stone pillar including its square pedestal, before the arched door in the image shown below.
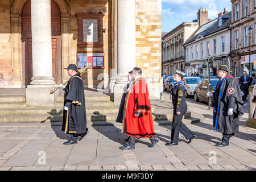
<svg viewBox="0 0 256 182"><path fill-rule="evenodd" d="M51 0L31 0L33 77L26 89L27 105L54 107L52 77Z"/></svg>

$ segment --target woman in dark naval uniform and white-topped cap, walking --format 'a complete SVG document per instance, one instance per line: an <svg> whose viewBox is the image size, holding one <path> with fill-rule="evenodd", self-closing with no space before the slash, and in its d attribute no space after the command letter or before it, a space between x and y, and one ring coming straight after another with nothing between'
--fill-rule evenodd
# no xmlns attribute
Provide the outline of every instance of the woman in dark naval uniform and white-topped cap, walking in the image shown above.
<svg viewBox="0 0 256 182"><path fill-rule="evenodd" d="M181 132L186 139L189 139L188 143L196 137L187 126L182 123L181 119L187 112L188 106L185 100L185 85L183 84L183 76L185 74L176 70L174 75L174 81L176 84L171 90L172 105L174 105L174 117L172 119L172 131L171 142L166 143L168 146L177 145L179 143L179 132Z"/></svg>

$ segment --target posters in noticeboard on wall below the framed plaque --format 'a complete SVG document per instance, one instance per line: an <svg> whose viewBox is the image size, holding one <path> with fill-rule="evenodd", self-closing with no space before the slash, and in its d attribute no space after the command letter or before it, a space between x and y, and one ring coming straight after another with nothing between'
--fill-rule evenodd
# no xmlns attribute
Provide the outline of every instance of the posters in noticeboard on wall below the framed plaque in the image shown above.
<svg viewBox="0 0 256 182"><path fill-rule="evenodd" d="M104 68L104 53L77 53L77 67Z"/></svg>

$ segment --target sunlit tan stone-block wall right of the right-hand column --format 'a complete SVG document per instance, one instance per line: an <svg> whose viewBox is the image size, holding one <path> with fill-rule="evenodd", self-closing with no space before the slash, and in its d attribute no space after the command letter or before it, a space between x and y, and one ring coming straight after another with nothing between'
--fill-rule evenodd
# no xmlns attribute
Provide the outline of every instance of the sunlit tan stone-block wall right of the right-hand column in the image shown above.
<svg viewBox="0 0 256 182"><path fill-rule="evenodd" d="M161 78L161 0L136 0L136 65L146 77L150 97L160 98Z"/></svg>

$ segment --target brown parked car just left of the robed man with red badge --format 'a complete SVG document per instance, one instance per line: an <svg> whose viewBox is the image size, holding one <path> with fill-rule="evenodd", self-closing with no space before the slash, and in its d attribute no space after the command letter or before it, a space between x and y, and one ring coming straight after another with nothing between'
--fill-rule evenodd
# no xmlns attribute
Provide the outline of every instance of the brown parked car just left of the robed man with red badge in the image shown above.
<svg viewBox="0 0 256 182"><path fill-rule="evenodd" d="M216 85L218 83L218 78L210 79L210 91L215 92ZM208 102L207 92L208 92L208 79L203 79L199 82L198 86L195 88L194 100L199 102L199 100ZM210 106L213 106L213 97L210 97Z"/></svg>

